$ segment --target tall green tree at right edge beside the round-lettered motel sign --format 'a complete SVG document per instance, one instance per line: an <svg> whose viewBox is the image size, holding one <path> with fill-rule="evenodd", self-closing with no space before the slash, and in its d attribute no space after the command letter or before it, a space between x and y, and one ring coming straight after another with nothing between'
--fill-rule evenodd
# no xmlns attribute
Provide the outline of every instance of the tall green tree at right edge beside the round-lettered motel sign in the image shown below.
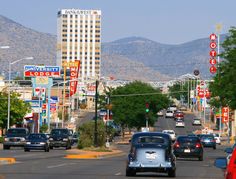
<svg viewBox="0 0 236 179"><path fill-rule="evenodd" d="M229 30L229 35L222 43L224 51L220 54L221 62L210 84L211 104L229 106L236 109L236 28Z"/></svg>

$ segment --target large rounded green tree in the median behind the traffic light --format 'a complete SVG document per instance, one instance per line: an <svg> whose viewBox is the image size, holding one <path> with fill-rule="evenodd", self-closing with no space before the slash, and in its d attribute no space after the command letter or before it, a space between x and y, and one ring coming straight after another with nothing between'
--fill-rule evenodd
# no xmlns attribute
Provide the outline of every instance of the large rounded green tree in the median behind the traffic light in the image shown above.
<svg viewBox="0 0 236 179"><path fill-rule="evenodd" d="M153 126L157 111L169 105L169 99L161 94L159 89L150 85L135 81L122 87L118 87L111 94L112 112L114 121L124 129L145 126L146 117L150 126ZM149 104L149 112L145 112L145 104Z"/></svg>

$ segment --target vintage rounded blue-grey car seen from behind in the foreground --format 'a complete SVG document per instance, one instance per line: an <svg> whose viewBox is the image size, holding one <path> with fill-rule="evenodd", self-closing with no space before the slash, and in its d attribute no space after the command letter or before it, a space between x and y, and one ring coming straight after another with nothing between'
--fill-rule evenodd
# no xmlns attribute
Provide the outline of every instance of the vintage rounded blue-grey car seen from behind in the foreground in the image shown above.
<svg viewBox="0 0 236 179"><path fill-rule="evenodd" d="M172 153L170 135L160 132L139 132L131 139L126 176L137 172L161 172L176 176L176 158Z"/></svg>

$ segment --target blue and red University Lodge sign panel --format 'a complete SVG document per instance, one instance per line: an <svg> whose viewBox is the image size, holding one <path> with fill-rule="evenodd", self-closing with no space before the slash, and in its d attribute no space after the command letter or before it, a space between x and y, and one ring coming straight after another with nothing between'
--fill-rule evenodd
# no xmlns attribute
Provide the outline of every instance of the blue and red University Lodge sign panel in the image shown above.
<svg viewBox="0 0 236 179"><path fill-rule="evenodd" d="M59 66L35 66L35 65L25 65L24 66L24 76L25 77L58 77L60 76Z"/></svg>

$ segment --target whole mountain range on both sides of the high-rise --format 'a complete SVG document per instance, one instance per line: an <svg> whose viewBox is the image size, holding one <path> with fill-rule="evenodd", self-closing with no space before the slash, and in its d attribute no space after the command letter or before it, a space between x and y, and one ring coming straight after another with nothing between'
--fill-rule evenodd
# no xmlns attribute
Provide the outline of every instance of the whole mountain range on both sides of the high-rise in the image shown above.
<svg viewBox="0 0 236 179"><path fill-rule="evenodd" d="M56 28L56 27L55 27ZM210 35L210 34L209 34ZM225 35L222 36L224 39ZM142 37L128 37L102 43L101 76L121 80L161 81L198 69L202 77L209 73L209 38L168 45ZM12 65L21 75L26 64L56 64L56 36L37 32L0 15L0 73L8 73L9 62L33 56Z"/></svg>

